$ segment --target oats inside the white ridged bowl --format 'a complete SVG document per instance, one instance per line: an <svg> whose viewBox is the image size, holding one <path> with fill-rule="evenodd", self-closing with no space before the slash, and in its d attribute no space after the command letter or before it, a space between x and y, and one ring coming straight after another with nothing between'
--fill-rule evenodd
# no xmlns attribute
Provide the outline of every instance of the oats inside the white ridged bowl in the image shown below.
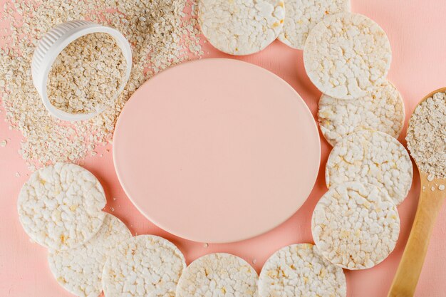
<svg viewBox="0 0 446 297"><path fill-rule="evenodd" d="M66 113L95 113L113 105L127 63L115 38L93 33L70 43L48 74L48 98ZM113 108L113 106L112 106Z"/></svg>

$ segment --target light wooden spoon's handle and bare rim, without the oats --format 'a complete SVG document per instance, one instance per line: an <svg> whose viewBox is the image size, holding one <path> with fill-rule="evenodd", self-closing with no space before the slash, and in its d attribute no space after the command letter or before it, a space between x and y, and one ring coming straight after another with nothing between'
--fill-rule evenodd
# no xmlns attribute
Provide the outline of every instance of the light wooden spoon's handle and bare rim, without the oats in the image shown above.
<svg viewBox="0 0 446 297"><path fill-rule="evenodd" d="M423 98L420 103L432 97L435 93L445 91L446 88L435 90ZM415 160L416 162L417 160ZM393 278L392 286L390 286L388 297L414 296L418 278L420 278L422 264L425 261L427 246L429 245L430 234L432 233L435 219L446 197L446 190L440 191L438 189L438 185L446 184L446 179L433 179L429 181L427 180L427 176L428 174L426 172L420 171L421 189L415 221L413 222L408 243L405 246L395 278ZM433 191L432 187L434 187Z"/></svg>

